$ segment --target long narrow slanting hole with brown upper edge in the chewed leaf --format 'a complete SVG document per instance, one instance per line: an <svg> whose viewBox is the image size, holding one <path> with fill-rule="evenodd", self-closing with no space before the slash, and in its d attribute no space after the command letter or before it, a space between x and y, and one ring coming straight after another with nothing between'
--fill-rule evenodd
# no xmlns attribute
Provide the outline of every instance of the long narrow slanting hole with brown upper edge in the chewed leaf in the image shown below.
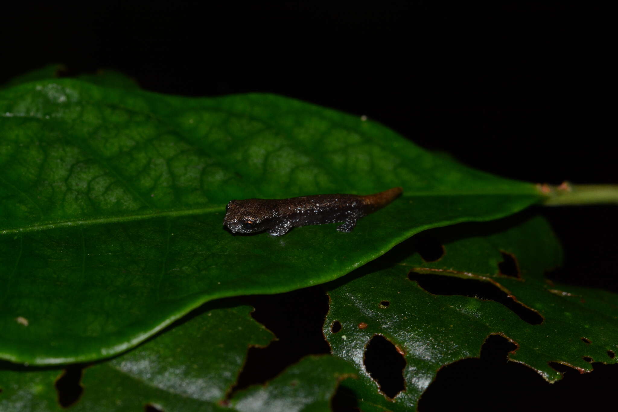
<svg viewBox="0 0 618 412"><path fill-rule="evenodd" d="M500 290L496 285L476 279L461 279L454 276L408 273L408 279L433 295L462 295L480 300L493 300L501 303L531 325L543 323L543 316Z"/></svg>

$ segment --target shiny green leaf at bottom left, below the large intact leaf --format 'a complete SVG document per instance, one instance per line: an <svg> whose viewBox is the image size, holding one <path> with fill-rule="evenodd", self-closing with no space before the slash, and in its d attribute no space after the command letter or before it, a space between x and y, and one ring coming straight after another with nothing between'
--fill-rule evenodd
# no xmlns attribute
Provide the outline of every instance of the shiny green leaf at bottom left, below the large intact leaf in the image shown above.
<svg viewBox="0 0 618 412"><path fill-rule="evenodd" d="M349 363L308 356L265 386L232 389L250 345L272 335L249 316L249 306L210 305L184 324L124 355L83 370L82 396L71 411L325 411ZM1 371L0 410L64 410L56 401L59 371ZM231 407L227 407L227 406Z"/></svg>

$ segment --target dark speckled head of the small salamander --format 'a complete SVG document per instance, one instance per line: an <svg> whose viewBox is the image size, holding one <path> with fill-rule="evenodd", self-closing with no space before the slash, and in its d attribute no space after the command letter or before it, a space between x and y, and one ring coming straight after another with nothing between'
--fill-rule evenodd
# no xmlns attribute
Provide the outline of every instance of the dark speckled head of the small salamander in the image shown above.
<svg viewBox="0 0 618 412"><path fill-rule="evenodd" d="M273 211L263 199L232 200L226 206L223 224L232 233L255 233L275 225Z"/></svg>

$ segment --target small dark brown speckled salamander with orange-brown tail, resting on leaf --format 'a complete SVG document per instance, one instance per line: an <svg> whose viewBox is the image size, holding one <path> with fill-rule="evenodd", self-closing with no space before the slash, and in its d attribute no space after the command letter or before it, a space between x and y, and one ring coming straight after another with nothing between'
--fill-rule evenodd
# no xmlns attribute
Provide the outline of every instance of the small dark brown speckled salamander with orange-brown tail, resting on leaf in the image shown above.
<svg viewBox="0 0 618 412"><path fill-rule="evenodd" d="M232 200L227 204L223 224L232 233L268 230L285 235L292 227L344 222L341 232L352 232L356 222L391 203L402 193L394 187L375 195L313 195L289 199Z"/></svg>

